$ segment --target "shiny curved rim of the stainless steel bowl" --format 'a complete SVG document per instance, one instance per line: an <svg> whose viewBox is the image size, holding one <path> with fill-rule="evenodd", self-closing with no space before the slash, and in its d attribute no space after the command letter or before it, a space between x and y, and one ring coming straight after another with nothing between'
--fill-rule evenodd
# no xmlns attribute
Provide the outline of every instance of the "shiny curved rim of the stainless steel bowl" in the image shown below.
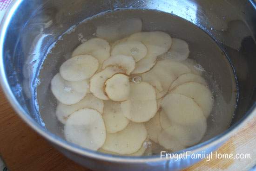
<svg viewBox="0 0 256 171"><path fill-rule="evenodd" d="M6 95L9 103L14 108L15 112L20 116L20 118L27 123L29 127L34 129L37 133L39 133L42 137L47 139L49 142L53 143L56 146L60 146L63 149L66 149L70 152L79 154L84 157L109 161L109 162L122 162L122 163L144 163L144 162L159 162L164 160L170 160L170 158L160 158L159 155L153 156L141 156L141 157L134 157L134 156L115 156L111 154L105 154L102 152L95 152L89 149L82 148L77 146L73 143L69 143L66 140L60 138L59 136L55 135L47 131L47 129L41 127L37 122L35 122L30 115L20 106L19 102L16 100L15 96L12 93L11 87L7 82L7 76L4 70L4 60L3 60L3 47L5 44L5 37L8 25L13 17L13 14L18 9L20 4L23 0L13 0L10 4L9 8L7 9L4 18L1 21L0 26L0 85L3 89L4 94ZM251 3L252 1L249 0ZM252 5L254 5L252 3ZM183 152L202 152L210 147L218 146L224 143L229 137L231 137L234 133L237 132L240 128L242 128L246 123L248 123L254 116L256 116L256 102L252 105L252 107L246 112L246 114L237 121L233 126L229 127L223 133L205 141L195 146L191 146L187 149L181 150L175 153L183 153Z"/></svg>

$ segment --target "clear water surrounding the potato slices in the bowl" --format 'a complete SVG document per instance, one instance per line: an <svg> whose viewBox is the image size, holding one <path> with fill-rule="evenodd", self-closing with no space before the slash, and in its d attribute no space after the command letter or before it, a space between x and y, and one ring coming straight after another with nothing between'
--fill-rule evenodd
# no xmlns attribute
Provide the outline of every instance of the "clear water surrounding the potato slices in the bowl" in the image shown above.
<svg viewBox="0 0 256 171"><path fill-rule="evenodd" d="M49 49L40 70L41 83L37 88L40 114L47 129L63 137L63 125L58 122L54 114L57 101L49 89L50 81L58 72L60 65L71 57L71 52L79 44L95 37L97 26L120 22L127 18L142 19L142 31L163 31L171 37L181 38L188 42L190 55L186 63L189 63L198 72L202 72L215 101L214 108L207 120L208 128L202 142L225 131L234 114L237 91L236 77L222 49L206 32L184 19L153 10L133 9L102 13L85 19L70 28ZM138 81L138 79L134 79L134 81ZM162 147L155 146L154 143L150 145L152 149L155 149L153 153L158 153L159 148Z"/></svg>

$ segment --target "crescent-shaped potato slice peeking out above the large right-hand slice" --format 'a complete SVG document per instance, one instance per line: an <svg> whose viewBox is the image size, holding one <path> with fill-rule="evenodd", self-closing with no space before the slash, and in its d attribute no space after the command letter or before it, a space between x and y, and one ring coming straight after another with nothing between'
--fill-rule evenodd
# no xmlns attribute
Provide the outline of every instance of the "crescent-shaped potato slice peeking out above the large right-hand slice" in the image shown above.
<svg viewBox="0 0 256 171"><path fill-rule="evenodd" d="M192 73L187 73L187 74L182 74L181 76L179 76L171 85L170 89L175 88L178 85L181 85L185 82L198 82L200 84L203 84L205 86L207 86L207 82L203 79L202 76L198 76Z"/></svg>

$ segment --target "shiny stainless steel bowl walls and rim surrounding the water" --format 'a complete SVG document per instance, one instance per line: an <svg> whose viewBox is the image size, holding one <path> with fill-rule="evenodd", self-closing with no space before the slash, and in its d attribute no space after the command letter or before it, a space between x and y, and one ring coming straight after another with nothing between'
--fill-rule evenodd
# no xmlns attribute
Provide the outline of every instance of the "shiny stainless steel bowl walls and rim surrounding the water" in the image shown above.
<svg viewBox="0 0 256 171"><path fill-rule="evenodd" d="M83 19L118 8L159 10L188 20L214 38L236 71L239 99L232 126L186 151L216 150L256 114L256 3L252 0L14 0L0 30L2 88L20 117L68 158L94 170L109 171L176 171L198 161L192 158L174 161L159 156L116 157L92 152L66 142L58 136L58 130L53 131L45 125L54 125L56 120L47 123L41 120L35 88L46 81L42 77L38 82L36 77L41 63L47 62L44 57L48 48ZM58 51L52 53L58 54ZM219 70L219 82L225 82L222 76L227 75L225 65L210 58L202 58L202 62ZM54 66L58 60L48 63ZM52 77L50 74L53 73L49 72ZM222 87L223 93L229 91L229 86ZM47 94L41 90L40 94Z"/></svg>

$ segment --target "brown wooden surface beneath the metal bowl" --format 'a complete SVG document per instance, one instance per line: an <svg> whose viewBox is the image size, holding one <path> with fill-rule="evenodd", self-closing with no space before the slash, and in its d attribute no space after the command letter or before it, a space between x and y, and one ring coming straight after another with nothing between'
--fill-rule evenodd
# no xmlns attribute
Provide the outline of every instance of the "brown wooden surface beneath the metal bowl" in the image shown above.
<svg viewBox="0 0 256 171"><path fill-rule="evenodd" d="M218 153L249 153L250 159L211 159L184 171L248 171L256 165L256 116ZM0 156L9 171L89 171L69 160L28 127L0 89Z"/></svg>

